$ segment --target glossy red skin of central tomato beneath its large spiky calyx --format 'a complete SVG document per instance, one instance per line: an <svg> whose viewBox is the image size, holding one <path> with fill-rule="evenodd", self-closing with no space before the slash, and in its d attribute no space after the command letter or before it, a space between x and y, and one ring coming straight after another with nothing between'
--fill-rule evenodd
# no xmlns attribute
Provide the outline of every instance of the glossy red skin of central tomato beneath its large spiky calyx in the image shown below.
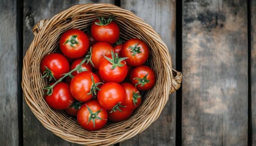
<svg viewBox="0 0 256 146"><path fill-rule="evenodd" d="M126 78L128 72L126 61L123 60L120 63L124 66L116 66L115 69L112 69L113 64L110 63L110 61L108 61L106 58L102 58L99 64L99 74L105 82L120 83L124 80L124 78Z"/></svg>

